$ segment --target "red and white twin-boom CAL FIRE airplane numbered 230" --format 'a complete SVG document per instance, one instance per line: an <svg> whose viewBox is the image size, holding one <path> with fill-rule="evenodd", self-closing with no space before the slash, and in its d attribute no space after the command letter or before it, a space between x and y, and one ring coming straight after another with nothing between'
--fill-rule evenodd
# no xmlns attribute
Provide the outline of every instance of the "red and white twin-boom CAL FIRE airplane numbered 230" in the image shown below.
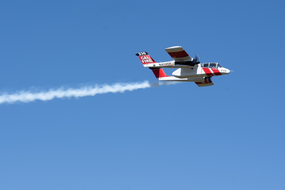
<svg viewBox="0 0 285 190"><path fill-rule="evenodd" d="M214 83L211 77L227 75L230 70L223 68L219 63L200 63L198 54L191 58L181 46L164 49L172 58L169 62L155 62L147 52L139 52L144 67L148 67L159 81L195 82L199 87L211 86ZM162 68L178 68L168 76Z"/></svg>

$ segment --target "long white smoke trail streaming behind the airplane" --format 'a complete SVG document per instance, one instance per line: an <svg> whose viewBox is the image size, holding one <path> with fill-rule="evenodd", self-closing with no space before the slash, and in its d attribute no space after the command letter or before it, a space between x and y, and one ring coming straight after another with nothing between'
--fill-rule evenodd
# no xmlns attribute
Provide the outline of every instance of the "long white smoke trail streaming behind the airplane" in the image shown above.
<svg viewBox="0 0 285 190"><path fill-rule="evenodd" d="M49 91L42 92L31 92L31 91L19 91L13 94L2 93L0 95L0 104L3 103L15 103L15 102L31 102L35 100L52 100L54 98L71 98L71 97L84 97L84 96L95 96L96 94L105 93L123 93L125 91L133 91L137 89L144 89L150 87L156 87L160 85L169 85L174 83L162 83L158 85L150 84L148 81L141 83L116 83L113 85L93 85L85 86L78 89L69 88L64 89L59 88L56 90L50 89Z"/></svg>

